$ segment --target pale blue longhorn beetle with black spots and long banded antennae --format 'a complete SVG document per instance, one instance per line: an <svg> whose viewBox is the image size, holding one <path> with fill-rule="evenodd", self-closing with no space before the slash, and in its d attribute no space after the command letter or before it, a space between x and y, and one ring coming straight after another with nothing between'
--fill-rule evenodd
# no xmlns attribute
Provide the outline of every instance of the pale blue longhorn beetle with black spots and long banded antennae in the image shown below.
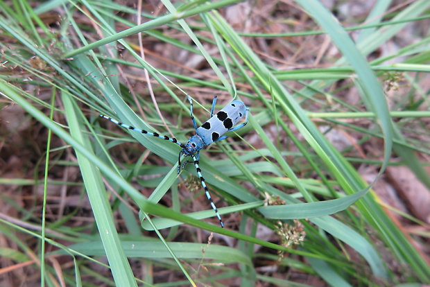
<svg viewBox="0 0 430 287"><path fill-rule="evenodd" d="M176 143L178 146L180 146L182 150L180 150L179 152L178 173L180 173L181 168L183 169L188 163L193 163L194 166L196 166L197 175L198 177L200 177L200 182L203 188L205 189L207 200L209 200L212 206L212 209L214 209L216 217L218 218L221 224L221 227L224 227L223 220L221 219L221 216L218 213L218 209L216 209L214 201L212 200L212 197L209 194L209 189L207 189L207 185L206 185L205 179L203 178L202 171L198 166L198 160L200 159L200 150L205 146L209 146L214 141L222 141L223 139L226 139L227 136L223 136L225 132L231 132L233 130L238 130L239 128L243 128L243 126L245 126L248 123L249 109L241 101L232 101L231 103L226 105L222 110L220 110L214 115L214 109L216 104L216 95L215 95L214 100L212 101L210 119L208 119L200 127L197 127L196 120L194 119L194 116L193 116L193 101L191 101L191 97L189 95L187 95L187 98L190 104L189 110L191 113L191 121L193 121L194 128L196 129L196 135L193 135L192 137L190 137L188 142L185 144L180 143L174 137L170 138L167 136L157 134L157 132L148 132L147 130L139 130L138 128L133 128L130 125L120 123L119 121L114 120L109 116L103 116L103 114L101 114L100 116L102 118L108 119L109 121L112 121L112 123L121 125L121 127L126 128L128 130L134 130L135 132L140 132L142 134L148 134L153 137L159 137L160 139L171 141L172 143ZM240 125L236 125L236 123L238 123L240 119L242 119L243 115L245 115L245 121ZM181 165L181 162L180 162L181 155L184 155L184 157L191 157L193 161L191 162L187 160L186 162L183 162Z"/></svg>

